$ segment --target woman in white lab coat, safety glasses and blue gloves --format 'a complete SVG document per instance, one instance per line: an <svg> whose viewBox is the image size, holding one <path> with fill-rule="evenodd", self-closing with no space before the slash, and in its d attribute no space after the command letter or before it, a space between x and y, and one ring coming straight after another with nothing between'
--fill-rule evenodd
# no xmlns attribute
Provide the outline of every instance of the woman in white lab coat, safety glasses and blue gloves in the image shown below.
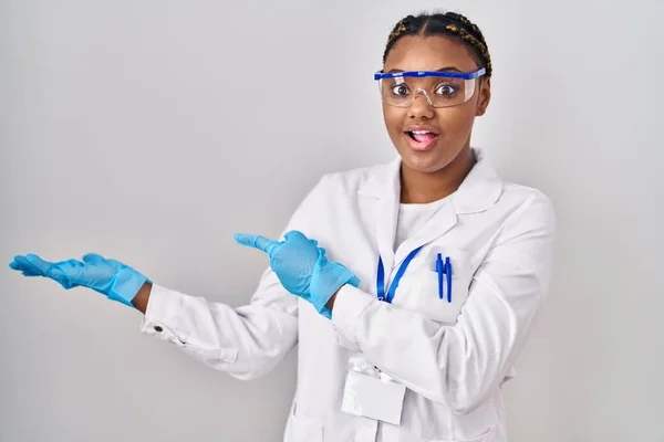
<svg viewBox="0 0 664 442"><path fill-rule="evenodd" d="M270 256L249 305L153 284L96 254L10 266L86 286L145 314L142 330L240 379L299 343L284 441L505 441L502 383L546 294L554 214L470 148L490 99L480 30L408 15L375 74L392 164L324 176Z"/></svg>

